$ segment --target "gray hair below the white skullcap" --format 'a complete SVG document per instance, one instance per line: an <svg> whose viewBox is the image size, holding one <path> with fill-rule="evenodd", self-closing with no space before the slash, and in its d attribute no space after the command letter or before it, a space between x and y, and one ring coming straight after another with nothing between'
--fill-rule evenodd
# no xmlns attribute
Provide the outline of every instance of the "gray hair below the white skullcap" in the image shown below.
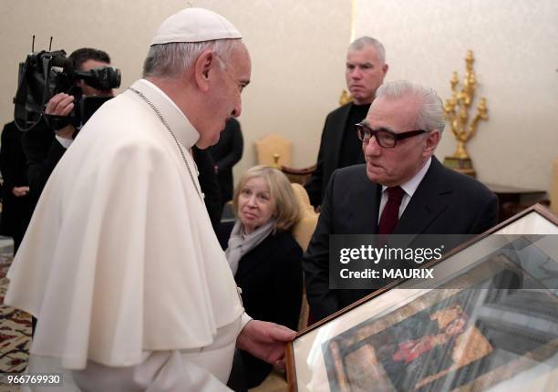
<svg viewBox="0 0 558 392"><path fill-rule="evenodd" d="M233 48L241 43L241 39L217 39L152 45L143 63L143 77L178 77L193 66L205 49L212 49L217 57L228 62Z"/></svg>

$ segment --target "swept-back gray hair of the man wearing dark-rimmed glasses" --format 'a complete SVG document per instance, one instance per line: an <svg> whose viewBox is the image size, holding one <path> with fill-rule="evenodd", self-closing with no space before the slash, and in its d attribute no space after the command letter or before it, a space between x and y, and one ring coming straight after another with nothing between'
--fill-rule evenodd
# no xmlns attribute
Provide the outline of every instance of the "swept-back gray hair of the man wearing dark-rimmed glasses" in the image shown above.
<svg viewBox="0 0 558 392"><path fill-rule="evenodd" d="M417 129L443 132L446 126L441 99L432 88L424 88L407 80L396 80L381 85L376 91L377 98L417 97L420 100L415 126Z"/></svg>

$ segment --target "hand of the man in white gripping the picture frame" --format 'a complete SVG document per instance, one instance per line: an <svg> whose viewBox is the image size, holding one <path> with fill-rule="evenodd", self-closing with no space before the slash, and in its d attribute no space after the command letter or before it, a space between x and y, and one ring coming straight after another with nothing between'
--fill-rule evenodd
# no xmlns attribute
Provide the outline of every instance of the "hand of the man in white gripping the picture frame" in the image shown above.
<svg viewBox="0 0 558 392"><path fill-rule="evenodd" d="M296 332L284 325L251 320L236 339L236 346L253 356L284 369L284 345Z"/></svg>

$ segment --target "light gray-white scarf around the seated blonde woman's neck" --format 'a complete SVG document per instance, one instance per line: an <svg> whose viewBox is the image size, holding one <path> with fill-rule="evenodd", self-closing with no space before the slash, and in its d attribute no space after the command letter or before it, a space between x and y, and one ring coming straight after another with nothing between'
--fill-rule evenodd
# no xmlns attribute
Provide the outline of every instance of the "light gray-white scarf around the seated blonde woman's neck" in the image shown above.
<svg viewBox="0 0 558 392"><path fill-rule="evenodd" d="M246 235L243 233L243 222L240 219L234 222L233 232L231 232L231 238L229 238L229 247L225 251L225 256L231 266L231 270L233 270L233 275L236 274L238 263L243 258L243 255L252 251L260 242L265 240L274 230L274 224L275 220L271 219L263 226Z"/></svg>

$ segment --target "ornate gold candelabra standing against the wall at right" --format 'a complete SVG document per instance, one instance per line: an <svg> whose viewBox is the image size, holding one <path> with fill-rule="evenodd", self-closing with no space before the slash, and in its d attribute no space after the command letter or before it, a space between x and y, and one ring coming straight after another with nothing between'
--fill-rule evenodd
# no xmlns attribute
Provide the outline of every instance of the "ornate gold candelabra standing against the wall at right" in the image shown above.
<svg viewBox="0 0 558 392"><path fill-rule="evenodd" d="M475 98L477 90L477 77L473 70L475 59L472 51L467 51L465 57L465 77L463 77L463 86L458 88L460 79L457 71L453 72L453 77L449 80L451 85L451 98L446 99L444 103L444 111L446 119L449 121L451 132L457 139L457 149L451 157L446 157L444 163L460 172L475 177L475 170L472 167L472 161L467 153L466 144L477 131L479 121L488 119L488 108L486 106L486 98L480 98L477 105L477 114L469 123L470 106Z"/></svg>

